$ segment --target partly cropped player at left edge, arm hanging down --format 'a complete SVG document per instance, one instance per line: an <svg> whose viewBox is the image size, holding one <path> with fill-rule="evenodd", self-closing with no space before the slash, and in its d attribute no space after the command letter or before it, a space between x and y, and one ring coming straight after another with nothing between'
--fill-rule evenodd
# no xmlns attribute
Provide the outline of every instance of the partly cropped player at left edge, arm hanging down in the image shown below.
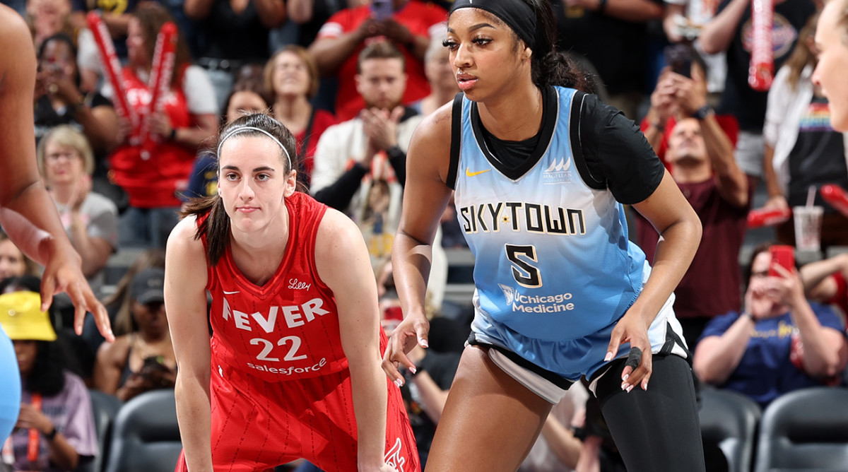
<svg viewBox="0 0 848 472"><path fill-rule="evenodd" d="M86 311L114 341L109 316L82 275L79 254L65 236L53 198L36 168L32 94L36 51L24 19L0 4L0 226L20 250L45 265L42 311L53 295L68 292L76 307L75 328L82 331ZM12 342L0 328L0 443L12 432L20 410L20 373Z"/></svg>

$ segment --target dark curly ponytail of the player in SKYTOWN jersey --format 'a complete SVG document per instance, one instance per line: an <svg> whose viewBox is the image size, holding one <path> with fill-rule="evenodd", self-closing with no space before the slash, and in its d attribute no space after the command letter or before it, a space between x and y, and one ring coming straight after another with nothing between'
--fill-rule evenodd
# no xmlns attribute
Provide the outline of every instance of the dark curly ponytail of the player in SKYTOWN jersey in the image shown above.
<svg viewBox="0 0 848 472"><path fill-rule="evenodd" d="M545 0L522 0L536 14L536 38L530 75L536 86L566 86L595 93L594 78L577 61L556 50L556 19Z"/></svg>

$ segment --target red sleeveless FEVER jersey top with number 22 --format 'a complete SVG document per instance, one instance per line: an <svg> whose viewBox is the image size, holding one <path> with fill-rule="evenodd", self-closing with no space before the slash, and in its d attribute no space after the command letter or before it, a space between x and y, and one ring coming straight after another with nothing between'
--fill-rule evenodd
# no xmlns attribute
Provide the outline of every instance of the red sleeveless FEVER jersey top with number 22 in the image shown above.
<svg viewBox="0 0 848 472"><path fill-rule="evenodd" d="M206 285L212 294L213 365L226 363L270 382L332 374L348 366L335 298L315 269L315 235L327 207L294 192L286 208L286 253L271 280L256 286L246 279L227 246L218 264L209 266Z"/></svg>

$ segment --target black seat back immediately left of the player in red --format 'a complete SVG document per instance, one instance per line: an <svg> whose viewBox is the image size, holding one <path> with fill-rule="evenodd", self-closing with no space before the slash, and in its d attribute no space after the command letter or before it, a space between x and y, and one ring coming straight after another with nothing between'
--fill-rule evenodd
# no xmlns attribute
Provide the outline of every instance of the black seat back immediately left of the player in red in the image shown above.
<svg viewBox="0 0 848 472"><path fill-rule="evenodd" d="M173 472L181 448L174 391L148 391L120 408L105 472Z"/></svg>

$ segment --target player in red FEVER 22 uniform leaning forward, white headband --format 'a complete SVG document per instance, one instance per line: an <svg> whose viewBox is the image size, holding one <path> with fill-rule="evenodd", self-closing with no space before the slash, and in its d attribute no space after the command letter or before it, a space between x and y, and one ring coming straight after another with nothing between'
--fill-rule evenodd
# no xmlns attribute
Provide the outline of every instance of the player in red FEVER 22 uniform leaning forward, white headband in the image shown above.
<svg viewBox="0 0 848 472"><path fill-rule="evenodd" d="M328 471L419 470L400 391L380 367L365 242L350 219L296 192L293 156L292 134L264 114L227 125L218 195L193 201L168 240L177 470L296 458Z"/></svg>

